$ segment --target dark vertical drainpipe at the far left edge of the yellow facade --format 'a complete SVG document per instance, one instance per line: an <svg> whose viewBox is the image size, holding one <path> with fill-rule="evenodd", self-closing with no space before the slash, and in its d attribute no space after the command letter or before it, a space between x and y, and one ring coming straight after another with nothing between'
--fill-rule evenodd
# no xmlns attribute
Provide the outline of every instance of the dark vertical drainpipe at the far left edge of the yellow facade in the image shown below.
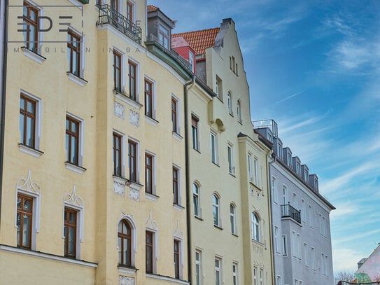
<svg viewBox="0 0 380 285"><path fill-rule="evenodd" d="M1 4L0 4L1 5ZM0 113L0 227L1 227L1 197L3 194L3 161L4 161L4 123L5 123L5 111L6 111L6 56L7 56L7 42L8 42L8 0L3 1L3 66L1 67L1 113Z"/></svg>

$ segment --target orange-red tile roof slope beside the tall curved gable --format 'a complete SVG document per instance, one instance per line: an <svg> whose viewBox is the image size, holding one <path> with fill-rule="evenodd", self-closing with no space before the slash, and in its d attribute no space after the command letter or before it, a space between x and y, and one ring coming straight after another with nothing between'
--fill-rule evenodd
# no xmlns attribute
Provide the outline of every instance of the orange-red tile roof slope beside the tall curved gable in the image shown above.
<svg viewBox="0 0 380 285"><path fill-rule="evenodd" d="M213 46L219 28L202 29L201 31L186 32L180 34L172 34L172 38L182 36L190 46L195 50L197 55L204 55L206 48Z"/></svg>

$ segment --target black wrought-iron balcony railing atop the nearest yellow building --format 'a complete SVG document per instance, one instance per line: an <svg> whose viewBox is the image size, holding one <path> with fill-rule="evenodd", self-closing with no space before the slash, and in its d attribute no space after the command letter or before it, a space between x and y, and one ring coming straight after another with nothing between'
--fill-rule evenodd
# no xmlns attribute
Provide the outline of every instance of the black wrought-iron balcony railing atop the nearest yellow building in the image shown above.
<svg viewBox="0 0 380 285"><path fill-rule="evenodd" d="M141 43L141 27L128 20L109 5L99 6L99 25L109 24L130 39Z"/></svg>

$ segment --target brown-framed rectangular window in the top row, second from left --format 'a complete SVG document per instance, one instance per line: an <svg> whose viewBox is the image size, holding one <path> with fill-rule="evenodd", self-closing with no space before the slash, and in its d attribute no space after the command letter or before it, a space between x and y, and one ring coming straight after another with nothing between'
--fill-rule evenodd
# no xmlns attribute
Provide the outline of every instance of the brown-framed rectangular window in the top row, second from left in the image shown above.
<svg viewBox="0 0 380 285"><path fill-rule="evenodd" d="M67 58L69 60L69 72L80 77L80 41L78 34L69 30L67 32Z"/></svg>

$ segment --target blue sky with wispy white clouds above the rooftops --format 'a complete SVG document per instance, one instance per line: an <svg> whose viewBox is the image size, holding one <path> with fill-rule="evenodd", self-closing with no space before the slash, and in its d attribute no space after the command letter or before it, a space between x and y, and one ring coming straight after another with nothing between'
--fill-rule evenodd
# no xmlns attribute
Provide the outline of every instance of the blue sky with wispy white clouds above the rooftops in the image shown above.
<svg viewBox="0 0 380 285"><path fill-rule="evenodd" d="M178 4L181 3L181 4ZM174 32L236 23L253 120L319 177L335 272L380 242L380 1L148 0Z"/></svg>

